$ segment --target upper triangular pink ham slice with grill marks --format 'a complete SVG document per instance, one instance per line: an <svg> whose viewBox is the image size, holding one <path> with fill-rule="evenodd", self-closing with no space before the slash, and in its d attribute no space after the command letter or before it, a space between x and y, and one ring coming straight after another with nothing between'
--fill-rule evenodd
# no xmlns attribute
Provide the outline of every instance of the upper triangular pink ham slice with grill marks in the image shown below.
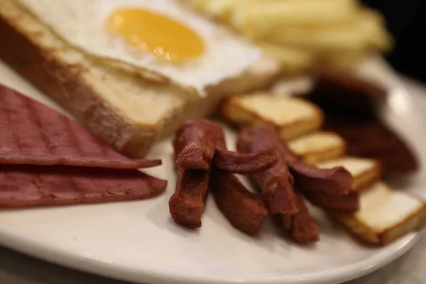
<svg viewBox="0 0 426 284"><path fill-rule="evenodd" d="M0 85L0 164L137 169L161 161L127 158L76 121Z"/></svg>

